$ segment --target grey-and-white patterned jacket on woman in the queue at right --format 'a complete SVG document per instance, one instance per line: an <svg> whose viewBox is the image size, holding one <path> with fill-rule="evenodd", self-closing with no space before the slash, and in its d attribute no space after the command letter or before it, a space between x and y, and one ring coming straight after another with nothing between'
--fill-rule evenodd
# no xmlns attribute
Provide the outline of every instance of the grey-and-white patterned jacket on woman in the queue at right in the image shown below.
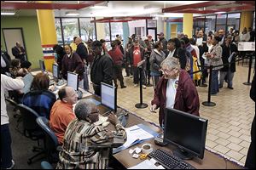
<svg viewBox="0 0 256 170"><path fill-rule="evenodd" d="M223 68L223 61L222 61L222 48L219 44L216 44L212 47L210 54L212 54L212 59L209 59L209 65L222 65L218 67L214 67L212 70L219 70Z"/></svg>

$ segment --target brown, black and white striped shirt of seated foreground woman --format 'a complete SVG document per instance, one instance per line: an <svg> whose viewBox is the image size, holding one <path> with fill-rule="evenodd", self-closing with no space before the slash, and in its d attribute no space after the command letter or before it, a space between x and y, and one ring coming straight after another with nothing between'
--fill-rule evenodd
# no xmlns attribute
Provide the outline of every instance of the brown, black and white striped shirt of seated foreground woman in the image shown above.
<svg viewBox="0 0 256 170"><path fill-rule="evenodd" d="M117 124L113 136L126 139L125 128ZM111 146L97 145L109 142L107 129L75 119L70 122L64 137L63 150L56 169L105 169L108 167ZM115 138L115 137L113 137Z"/></svg>

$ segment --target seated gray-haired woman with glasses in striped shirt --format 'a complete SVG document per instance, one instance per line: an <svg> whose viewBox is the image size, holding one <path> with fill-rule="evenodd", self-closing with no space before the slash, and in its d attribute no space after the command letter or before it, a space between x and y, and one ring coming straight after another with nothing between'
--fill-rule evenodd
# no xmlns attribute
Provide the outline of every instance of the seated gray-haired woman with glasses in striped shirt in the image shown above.
<svg viewBox="0 0 256 170"><path fill-rule="evenodd" d="M123 142L126 139L125 128L113 114L108 116L108 121L117 131L108 132L102 126L96 126L94 122L99 120L99 110L86 99L79 100L74 112L77 119L67 127L56 169L106 169L110 149L121 145L114 145L114 139ZM99 145L104 145L104 148Z"/></svg>

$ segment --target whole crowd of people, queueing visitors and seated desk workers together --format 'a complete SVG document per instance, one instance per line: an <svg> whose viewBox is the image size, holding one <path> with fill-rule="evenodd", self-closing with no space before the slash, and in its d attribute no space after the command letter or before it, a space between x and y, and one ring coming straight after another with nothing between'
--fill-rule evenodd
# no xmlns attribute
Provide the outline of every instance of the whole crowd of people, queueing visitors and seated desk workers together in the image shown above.
<svg viewBox="0 0 256 170"><path fill-rule="evenodd" d="M64 48L55 45L55 63L60 66L61 77L64 79L67 79L67 71L79 74L79 87L85 90L88 90L88 81L84 80L88 79L90 72L92 87L99 96L101 82L116 88L120 84L120 88L126 88L123 68L125 77L133 77L134 87L138 86L141 78L143 88L146 88L152 77L154 99L151 101L150 111L160 108L159 123L160 127L163 127L165 108L200 115L199 96L195 87L206 84L207 66L213 66L212 80L209 80L212 81L212 95L218 94L219 88L223 88L224 80L228 82L228 88L233 89L237 43L254 41L253 38L251 28L248 28L248 31L245 28L240 37L237 31L232 29L226 34L224 30L214 34L210 31L208 35L199 30L193 38L178 34L168 41L164 33L160 32L157 42L154 42L150 35L143 40L133 34L128 37L128 42L123 47L121 37L117 35L108 50L103 39L89 39L83 42L81 37L74 37L73 42L66 44ZM78 102L78 94L70 87L61 88L58 92L59 99L56 99L52 93L53 89L49 88L48 75L41 72L35 77L32 76L31 63L26 61L25 51L20 48L19 42L16 43L13 54L15 59L10 59L9 54L1 51L1 107L4 107L1 109L1 134L4 136L1 138L1 149L3 153L4 147L6 155L2 159L1 167L14 166L4 90L12 90L15 94L9 95L15 96L17 103L27 105L40 116L49 119L49 127L63 146L58 168L108 167L105 152L109 150L96 150L89 146L91 143L109 142L108 139L115 135L126 139L125 129L117 117L112 114L108 116L109 122L116 127L113 133L95 126L93 122L96 122L99 116L96 105L86 100ZM140 69L143 71L142 77L139 74ZM193 74L195 71L198 72ZM24 80L28 82L24 83ZM76 103L73 111L73 104ZM77 132L76 135L73 135L73 132ZM84 161L80 161L81 157Z"/></svg>

